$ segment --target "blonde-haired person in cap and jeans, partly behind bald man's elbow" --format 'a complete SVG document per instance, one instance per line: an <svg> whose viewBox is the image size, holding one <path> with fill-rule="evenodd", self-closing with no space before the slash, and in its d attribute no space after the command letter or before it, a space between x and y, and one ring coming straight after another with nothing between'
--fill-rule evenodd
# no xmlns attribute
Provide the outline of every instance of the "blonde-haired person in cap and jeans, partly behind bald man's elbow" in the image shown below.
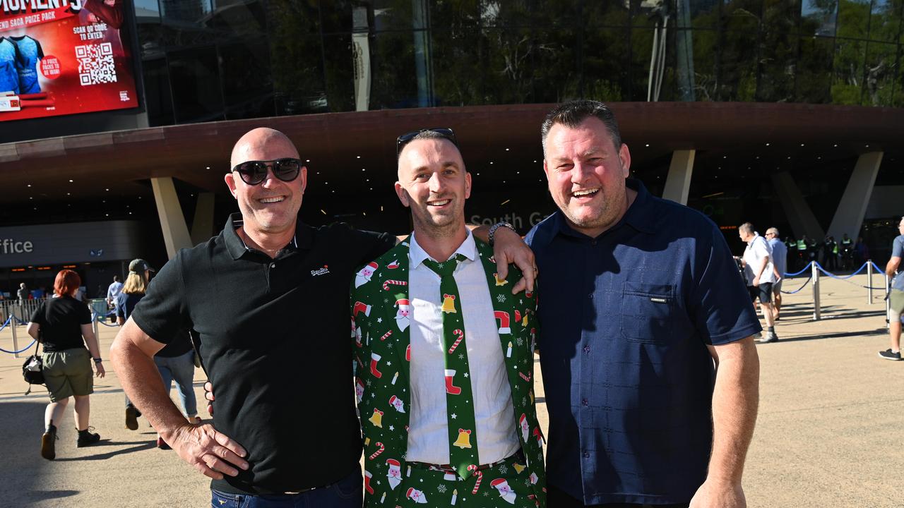
<svg viewBox="0 0 904 508"><path fill-rule="evenodd" d="M151 268L144 259L132 259L128 264L128 277L119 294L117 304L117 322L119 325L126 323L129 315L138 302L145 297L151 273ZM173 381L179 390L179 400L182 402L185 418L192 423L200 423L198 417L197 400L194 396L194 352L188 331L181 329L176 332L174 340L165 345L163 349L154 355L154 362L160 377L163 379L166 392L169 393ZM135 407L126 395L126 428L137 430L138 417L141 412ZM157 447L168 449L163 437L157 435Z"/></svg>

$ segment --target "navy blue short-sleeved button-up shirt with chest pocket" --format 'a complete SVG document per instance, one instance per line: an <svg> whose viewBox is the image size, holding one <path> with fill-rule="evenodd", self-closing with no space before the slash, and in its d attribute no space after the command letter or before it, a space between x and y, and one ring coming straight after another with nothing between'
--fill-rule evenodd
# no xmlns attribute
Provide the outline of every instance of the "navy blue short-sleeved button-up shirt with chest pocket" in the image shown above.
<svg viewBox="0 0 904 508"><path fill-rule="evenodd" d="M540 268L547 478L584 503L688 503L706 478L708 344L760 331L720 230L642 183L597 238L561 212L527 235Z"/></svg>

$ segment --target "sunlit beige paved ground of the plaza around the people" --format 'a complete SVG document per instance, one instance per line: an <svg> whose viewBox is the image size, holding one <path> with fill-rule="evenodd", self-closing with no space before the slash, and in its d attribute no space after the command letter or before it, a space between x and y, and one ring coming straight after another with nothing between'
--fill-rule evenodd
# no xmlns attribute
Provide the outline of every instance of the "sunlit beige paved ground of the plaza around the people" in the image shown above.
<svg viewBox="0 0 904 508"><path fill-rule="evenodd" d="M810 287L786 296L777 332L781 341L758 346L760 409L744 487L749 506L904 506L899 447L904 362L880 360L888 347L884 304L866 304L865 276L822 281L823 317L811 320ZM803 284L789 280L786 290ZM880 277L874 280L880 286ZM880 295L880 292L877 292ZM20 338L24 327L19 328ZM101 327L103 351L116 328ZM24 340L20 340L24 344ZM0 348L12 349L9 329ZM24 355L21 355L24 357ZM105 356L106 357L106 356ZM43 387L24 397L21 364L0 353L0 505L152 507L210 503L205 478L172 451L155 447L145 420L123 424L115 372L95 385L91 425L102 441L76 448L71 409L61 422L57 459L39 456ZM539 376L539 365L537 369ZM195 391L201 395L202 372ZM538 382L538 401L542 387ZM546 408L541 403L545 426ZM315 436L298 436L315 439Z"/></svg>

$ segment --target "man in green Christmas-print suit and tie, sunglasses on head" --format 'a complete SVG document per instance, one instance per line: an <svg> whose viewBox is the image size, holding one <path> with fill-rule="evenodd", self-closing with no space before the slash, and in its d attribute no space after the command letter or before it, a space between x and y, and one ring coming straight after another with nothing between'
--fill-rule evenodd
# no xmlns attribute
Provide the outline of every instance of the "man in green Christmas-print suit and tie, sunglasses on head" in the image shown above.
<svg viewBox="0 0 904 508"><path fill-rule="evenodd" d="M400 136L398 151L414 232L352 285L365 506L545 506L536 298L513 295L467 230L452 131Z"/></svg>

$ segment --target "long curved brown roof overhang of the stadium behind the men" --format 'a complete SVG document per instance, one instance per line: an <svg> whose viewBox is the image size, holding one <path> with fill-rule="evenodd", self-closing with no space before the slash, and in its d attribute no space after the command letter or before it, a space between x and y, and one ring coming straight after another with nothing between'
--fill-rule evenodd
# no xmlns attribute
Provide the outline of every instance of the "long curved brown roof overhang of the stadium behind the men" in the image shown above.
<svg viewBox="0 0 904 508"><path fill-rule="evenodd" d="M149 194L148 180L172 176L199 190L225 193L231 147L253 127L285 132L309 172L363 189L362 170L391 178L395 138L420 127L453 127L466 165L502 181L513 168L541 172L540 124L551 104L415 108L257 118L152 127L0 145L5 206ZM902 150L899 108L723 102L613 103L634 168L693 148L779 165L794 157L825 159ZM14 125L5 126L13 128ZM815 160L815 157L814 157ZM538 162L534 162L538 161ZM495 165L490 165L495 163ZM778 166L776 166L778 167ZM490 171L492 170L492 171ZM482 180L486 182L487 180ZM317 192L314 188L310 192ZM33 201L31 201L33 202Z"/></svg>

